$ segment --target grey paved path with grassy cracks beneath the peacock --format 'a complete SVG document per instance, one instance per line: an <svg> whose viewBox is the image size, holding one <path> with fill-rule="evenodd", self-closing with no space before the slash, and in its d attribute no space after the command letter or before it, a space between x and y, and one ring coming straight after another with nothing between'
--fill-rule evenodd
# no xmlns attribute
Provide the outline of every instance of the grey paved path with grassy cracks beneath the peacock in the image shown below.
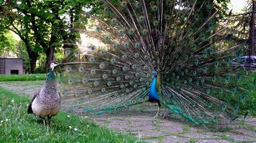
<svg viewBox="0 0 256 143"><path fill-rule="evenodd" d="M43 81L0 82L0 87L32 97L34 92L42 88L42 84ZM149 103L109 114L88 115L80 110L76 110L76 114L148 142L256 142L256 117L247 117L245 121L238 119L218 128L206 128L186 122L175 114L165 119L162 116L153 119L156 111L157 106Z"/></svg>

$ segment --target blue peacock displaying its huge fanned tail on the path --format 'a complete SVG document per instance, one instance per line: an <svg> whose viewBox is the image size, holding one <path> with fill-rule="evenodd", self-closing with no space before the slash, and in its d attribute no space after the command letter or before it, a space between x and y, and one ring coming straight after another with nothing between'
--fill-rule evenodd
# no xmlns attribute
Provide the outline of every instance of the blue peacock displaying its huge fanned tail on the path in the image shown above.
<svg viewBox="0 0 256 143"><path fill-rule="evenodd" d="M99 9L99 15L86 12L93 26L72 29L104 46L65 49L58 79L63 107L104 114L153 102L157 114L165 108L193 124L237 117L247 89L232 62L247 43L232 41L239 31L219 19L219 6L207 0L102 0Z"/></svg>

